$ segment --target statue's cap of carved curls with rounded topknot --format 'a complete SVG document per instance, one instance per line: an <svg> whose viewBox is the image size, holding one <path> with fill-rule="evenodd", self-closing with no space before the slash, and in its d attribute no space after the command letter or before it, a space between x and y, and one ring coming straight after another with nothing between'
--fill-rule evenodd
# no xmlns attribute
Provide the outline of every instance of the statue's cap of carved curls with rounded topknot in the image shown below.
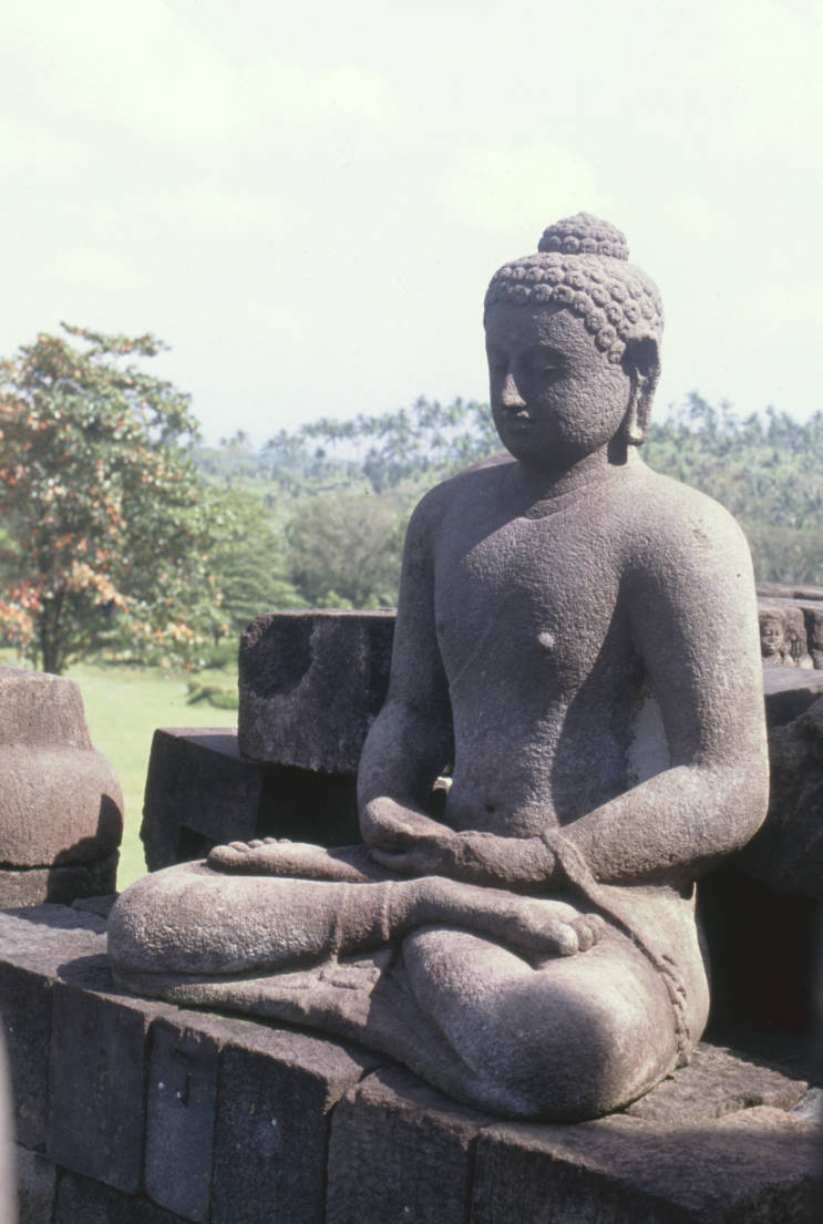
<svg viewBox="0 0 823 1224"><path fill-rule="evenodd" d="M577 213L543 231L536 255L505 263L484 306L550 302L585 323L607 360L620 365L629 340L663 335L663 302L650 277L628 261L626 236L590 213Z"/></svg>

